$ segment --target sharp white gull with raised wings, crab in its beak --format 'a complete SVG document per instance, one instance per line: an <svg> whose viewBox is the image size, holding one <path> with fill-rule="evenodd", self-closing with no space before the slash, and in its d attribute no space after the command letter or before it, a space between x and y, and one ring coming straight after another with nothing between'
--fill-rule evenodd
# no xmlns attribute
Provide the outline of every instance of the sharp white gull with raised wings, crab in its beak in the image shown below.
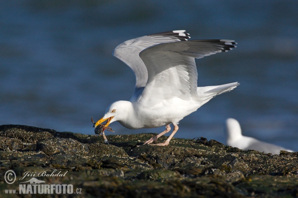
<svg viewBox="0 0 298 198"><path fill-rule="evenodd" d="M185 30L151 34L128 40L117 46L113 55L126 63L135 73L136 87L129 101L111 103L104 116L93 127L107 127L118 121L129 129L166 126L144 145L174 130L164 143L168 146L185 116L217 95L233 90L238 82L219 86L197 87L195 58L235 48L232 40L192 40ZM101 124L107 121L105 125ZM104 130L104 129L103 129Z"/></svg>

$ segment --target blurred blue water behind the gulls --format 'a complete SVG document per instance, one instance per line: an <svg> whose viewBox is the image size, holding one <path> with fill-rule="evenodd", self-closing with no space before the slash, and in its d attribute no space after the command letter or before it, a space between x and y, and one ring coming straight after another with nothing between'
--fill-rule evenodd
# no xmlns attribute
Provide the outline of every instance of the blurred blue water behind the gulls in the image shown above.
<svg viewBox="0 0 298 198"><path fill-rule="evenodd" d="M90 117L130 99L135 86L112 50L132 38L185 29L191 39L238 43L197 60L198 86L240 86L181 120L174 137L224 143L224 121L233 117L244 135L298 150L297 7L294 0L1 1L0 125L94 134ZM110 126L115 134L163 130Z"/></svg>

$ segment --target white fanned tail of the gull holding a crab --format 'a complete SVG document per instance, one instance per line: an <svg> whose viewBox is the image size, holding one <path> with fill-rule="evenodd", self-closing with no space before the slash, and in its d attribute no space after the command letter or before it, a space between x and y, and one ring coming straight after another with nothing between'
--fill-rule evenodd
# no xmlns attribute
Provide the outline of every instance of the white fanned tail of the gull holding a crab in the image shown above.
<svg viewBox="0 0 298 198"><path fill-rule="evenodd" d="M220 95L235 89L238 85L240 84L238 82L235 82L235 83L228 83L228 84L218 85L218 86L198 87L197 92L199 95L199 99L201 99L203 104L205 104L206 102L216 97L217 95Z"/></svg>

